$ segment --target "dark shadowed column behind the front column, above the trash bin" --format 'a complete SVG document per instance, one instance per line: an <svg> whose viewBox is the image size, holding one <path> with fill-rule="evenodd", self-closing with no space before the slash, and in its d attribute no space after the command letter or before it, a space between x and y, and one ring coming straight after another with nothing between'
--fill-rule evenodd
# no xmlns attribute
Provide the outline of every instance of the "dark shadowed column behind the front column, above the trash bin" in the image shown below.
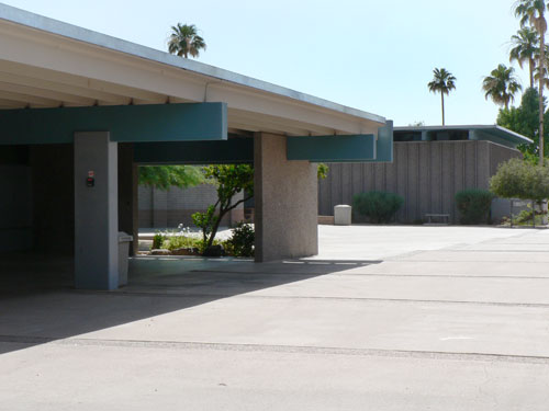
<svg viewBox="0 0 549 411"><path fill-rule="evenodd" d="M138 190L133 144L119 144L119 230L134 237L131 255L135 255L139 247Z"/></svg>

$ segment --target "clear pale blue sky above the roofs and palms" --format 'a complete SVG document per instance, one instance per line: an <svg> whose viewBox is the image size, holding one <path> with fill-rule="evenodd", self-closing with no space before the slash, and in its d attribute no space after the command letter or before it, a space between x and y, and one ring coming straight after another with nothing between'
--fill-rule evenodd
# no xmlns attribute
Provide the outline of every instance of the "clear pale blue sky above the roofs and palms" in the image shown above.
<svg viewBox="0 0 549 411"><path fill-rule="evenodd" d="M456 78L446 124L494 124L482 79L509 65L515 0L3 0L5 4L160 50L195 24L199 61L381 115L441 124L434 68ZM517 65L524 88L528 73ZM525 67L526 68L526 67ZM518 95L515 104L518 104Z"/></svg>

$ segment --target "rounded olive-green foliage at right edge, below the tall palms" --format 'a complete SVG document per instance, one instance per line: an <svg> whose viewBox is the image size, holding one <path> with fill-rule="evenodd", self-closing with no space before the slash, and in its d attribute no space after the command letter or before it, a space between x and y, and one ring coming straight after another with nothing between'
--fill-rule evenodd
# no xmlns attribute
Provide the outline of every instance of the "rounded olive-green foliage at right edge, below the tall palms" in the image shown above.
<svg viewBox="0 0 549 411"><path fill-rule="evenodd" d="M549 198L549 167L511 159L497 168L490 180L490 191L503 198L542 202Z"/></svg>

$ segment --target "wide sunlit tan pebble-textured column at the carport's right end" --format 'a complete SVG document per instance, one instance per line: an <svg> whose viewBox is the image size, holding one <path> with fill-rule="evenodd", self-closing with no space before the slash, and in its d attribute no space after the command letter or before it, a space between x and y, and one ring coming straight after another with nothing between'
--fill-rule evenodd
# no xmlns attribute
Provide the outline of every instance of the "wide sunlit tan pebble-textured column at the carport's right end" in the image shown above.
<svg viewBox="0 0 549 411"><path fill-rule="evenodd" d="M254 137L256 262L318 253L315 164L287 160L284 136Z"/></svg>

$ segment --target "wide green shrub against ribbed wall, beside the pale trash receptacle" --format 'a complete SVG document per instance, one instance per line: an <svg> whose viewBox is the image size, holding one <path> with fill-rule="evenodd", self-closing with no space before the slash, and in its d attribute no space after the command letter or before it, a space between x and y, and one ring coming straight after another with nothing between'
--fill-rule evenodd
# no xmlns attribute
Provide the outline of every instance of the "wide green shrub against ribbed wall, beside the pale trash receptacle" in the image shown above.
<svg viewBox="0 0 549 411"><path fill-rule="evenodd" d="M403 204L404 198L394 193L371 191L352 196L354 212L376 224L390 222Z"/></svg>

